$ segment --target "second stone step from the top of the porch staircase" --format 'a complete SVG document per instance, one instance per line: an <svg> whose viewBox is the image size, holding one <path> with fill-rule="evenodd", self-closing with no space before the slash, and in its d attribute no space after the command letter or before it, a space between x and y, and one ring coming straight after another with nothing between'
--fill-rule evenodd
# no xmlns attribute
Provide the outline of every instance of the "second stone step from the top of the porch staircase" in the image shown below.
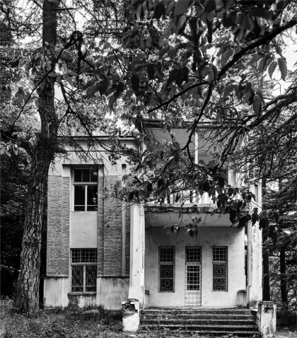
<svg viewBox="0 0 297 338"><path fill-rule="evenodd" d="M191 320L191 319L201 319L201 320L254 320L254 316L251 314L247 315L213 315L213 314L202 314L202 313L176 313L176 314L163 314L159 313L157 315L151 315L144 313L141 315L141 319L148 320L162 320L162 319L182 319L182 320Z"/></svg>

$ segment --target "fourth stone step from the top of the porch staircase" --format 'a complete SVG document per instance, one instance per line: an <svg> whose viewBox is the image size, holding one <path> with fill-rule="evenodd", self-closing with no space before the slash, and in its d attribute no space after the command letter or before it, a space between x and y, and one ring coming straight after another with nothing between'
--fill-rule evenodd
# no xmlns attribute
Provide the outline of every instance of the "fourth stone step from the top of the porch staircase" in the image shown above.
<svg viewBox="0 0 297 338"><path fill-rule="evenodd" d="M256 332L257 326L255 325L199 325L199 324L186 324L186 325L140 325L139 330L156 330L156 328L168 329L168 330L188 330L188 331L204 331L204 332L212 332L212 331L221 331L221 332Z"/></svg>

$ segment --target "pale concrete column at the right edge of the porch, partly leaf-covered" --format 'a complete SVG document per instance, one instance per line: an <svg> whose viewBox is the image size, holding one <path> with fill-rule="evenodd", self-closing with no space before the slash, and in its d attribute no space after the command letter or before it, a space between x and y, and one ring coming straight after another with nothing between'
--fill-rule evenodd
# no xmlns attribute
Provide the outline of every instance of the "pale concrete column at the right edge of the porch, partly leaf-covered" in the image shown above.
<svg viewBox="0 0 297 338"><path fill-rule="evenodd" d="M250 187L250 191L254 192L254 186ZM259 202L250 203L250 213L257 207L261 212L261 204ZM255 308L257 303L262 301L262 231L259 229L259 223L252 226L252 222L248 223L248 287L247 287L247 303L249 308Z"/></svg>

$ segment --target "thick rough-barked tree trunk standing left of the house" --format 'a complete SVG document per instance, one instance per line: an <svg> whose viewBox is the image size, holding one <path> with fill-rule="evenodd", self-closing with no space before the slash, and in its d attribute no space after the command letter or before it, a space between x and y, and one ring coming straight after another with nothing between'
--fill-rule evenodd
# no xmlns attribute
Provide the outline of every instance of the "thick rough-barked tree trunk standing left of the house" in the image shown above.
<svg viewBox="0 0 297 338"><path fill-rule="evenodd" d="M57 42L58 0L43 2L42 45L54 64ZM42 217L47 197L47 176L57 151L58 117L54 107L54 80L47 78L39 95L41 130L31 151L30 180L25 206L25 223L21 251L21 270L18 276L16 308L34 313L39 308L40 249Z"/></svg>

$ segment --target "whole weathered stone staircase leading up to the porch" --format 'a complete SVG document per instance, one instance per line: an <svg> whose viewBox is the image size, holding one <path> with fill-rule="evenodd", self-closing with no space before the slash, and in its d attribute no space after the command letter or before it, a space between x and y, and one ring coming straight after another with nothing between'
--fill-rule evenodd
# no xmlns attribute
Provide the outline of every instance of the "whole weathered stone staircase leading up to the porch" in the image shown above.
<svg viewBox="0 0 297 338"><path fill-rule="evenodd" d="M141 311L139 331L180 330L182 334L209 334L217 337L260 337L255 318L246 309L169 309Z"/></svg>

